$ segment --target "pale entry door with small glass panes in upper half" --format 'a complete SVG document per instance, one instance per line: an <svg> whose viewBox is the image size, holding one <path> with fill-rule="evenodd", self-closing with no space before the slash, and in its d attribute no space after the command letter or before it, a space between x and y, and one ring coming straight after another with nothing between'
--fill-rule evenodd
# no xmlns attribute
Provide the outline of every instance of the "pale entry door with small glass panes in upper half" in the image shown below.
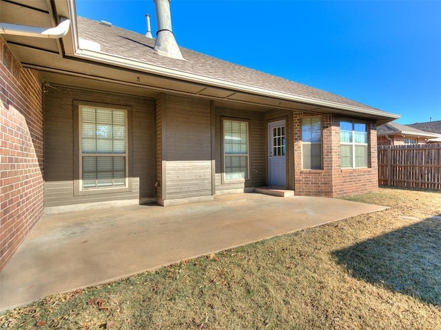
<svg viewBox="0 0 441 330"><path fill-rule="evenodd" d="M285 120L268 124L268 184L287 186Z"/></svg>

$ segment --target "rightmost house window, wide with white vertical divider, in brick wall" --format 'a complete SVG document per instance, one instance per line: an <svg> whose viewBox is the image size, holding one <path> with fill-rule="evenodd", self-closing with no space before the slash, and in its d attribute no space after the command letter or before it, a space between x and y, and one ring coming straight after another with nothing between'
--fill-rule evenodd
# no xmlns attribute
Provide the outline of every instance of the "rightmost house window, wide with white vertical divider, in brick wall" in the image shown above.
<svg viewBox="0 0 441 330"><path fill-rule="evenodd" d="M342 168L367 167L367 124L340 121L340 154Z"/></svg>

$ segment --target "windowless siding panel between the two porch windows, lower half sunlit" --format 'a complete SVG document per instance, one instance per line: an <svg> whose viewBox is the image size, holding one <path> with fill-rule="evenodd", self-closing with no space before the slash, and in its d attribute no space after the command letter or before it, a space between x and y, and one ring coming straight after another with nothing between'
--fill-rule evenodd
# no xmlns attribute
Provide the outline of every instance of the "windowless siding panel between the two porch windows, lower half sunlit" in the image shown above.
<svg viewBox="0 0 441 330"><path fill-rule="evenodd" d="M162 199L212 195L209 101L165 96L162 102L162 116L167 118L166 130L162 132Z"/></svg>

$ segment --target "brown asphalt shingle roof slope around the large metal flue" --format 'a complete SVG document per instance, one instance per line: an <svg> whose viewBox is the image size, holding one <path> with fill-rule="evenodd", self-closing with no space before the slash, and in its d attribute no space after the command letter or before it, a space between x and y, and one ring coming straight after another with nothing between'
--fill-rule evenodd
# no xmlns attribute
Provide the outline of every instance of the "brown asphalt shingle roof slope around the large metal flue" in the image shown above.
<svg viewBox="0 0 441 330"><path fill-rule="evenodd" d="M149 65L167 67L181 72L216 78L250 87L269 89L294 96L315 98L379 111L376 108L322 91L321 89L295 83L294 81L272 76L271 74L265 74L255 69L236 65L183 47L180 47L180 50L186 61L161 56L153 50L154 39L149 39L143 36L143 34L124 30L116 26L108 27L83 17L77 17L77 25L79 37L99 43L101 45L101 52L114 56L123 56Z"/></svg>

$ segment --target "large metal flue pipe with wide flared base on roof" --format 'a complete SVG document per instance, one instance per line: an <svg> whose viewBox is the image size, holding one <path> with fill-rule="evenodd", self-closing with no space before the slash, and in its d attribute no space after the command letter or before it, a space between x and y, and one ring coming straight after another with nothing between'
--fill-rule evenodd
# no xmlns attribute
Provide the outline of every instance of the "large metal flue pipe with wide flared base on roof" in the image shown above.
<svg viewBox="0 0 441 330"><path fill-rule="evenodd" d="M172 18L170 15L170 0L153 0L156 11L156 43L154 50L162 56L183 60L181 50L174 39L172 32Z"/></svg>

